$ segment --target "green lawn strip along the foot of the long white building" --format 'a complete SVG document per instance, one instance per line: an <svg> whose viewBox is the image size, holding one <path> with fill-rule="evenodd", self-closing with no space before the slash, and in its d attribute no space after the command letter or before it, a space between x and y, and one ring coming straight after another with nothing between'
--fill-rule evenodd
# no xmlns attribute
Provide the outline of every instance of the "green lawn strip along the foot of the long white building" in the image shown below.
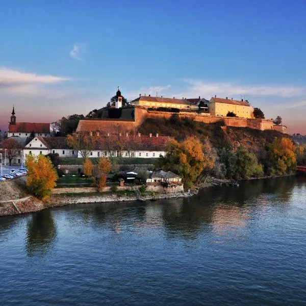
<svg viewBox="0 0 306 306"><path fill-rule="evenodd" d="M158 158L139 158L139 157L113 157L112 158L118 165L145 165L155 164ZM90 158L93 164L97 164L99 161L98 157ZM82 165L84 162L83 158L77 157L62 157L60 165Z"/></svg>

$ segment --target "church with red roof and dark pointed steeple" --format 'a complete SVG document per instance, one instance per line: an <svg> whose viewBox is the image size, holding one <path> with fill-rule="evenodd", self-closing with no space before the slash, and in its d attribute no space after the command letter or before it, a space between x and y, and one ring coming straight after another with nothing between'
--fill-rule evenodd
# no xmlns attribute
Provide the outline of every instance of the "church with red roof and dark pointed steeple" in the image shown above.
<svg viewBox="0 0 306 306"><path fill-rule="evenodd" d="M32 134L32 135L31 135ZM13 106L11 121L9 122L8 137L50 136L50 123L16 122Z"/></svg>

